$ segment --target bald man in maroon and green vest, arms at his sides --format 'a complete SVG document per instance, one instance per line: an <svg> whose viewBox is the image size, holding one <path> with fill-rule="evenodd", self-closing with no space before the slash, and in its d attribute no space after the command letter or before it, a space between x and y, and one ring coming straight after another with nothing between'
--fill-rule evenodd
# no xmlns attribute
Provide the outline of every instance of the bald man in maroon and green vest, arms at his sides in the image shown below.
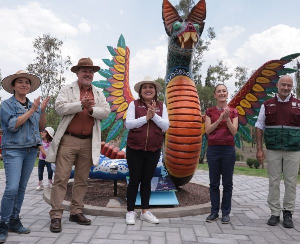
<svg viewBox="0 0 300 244"><path fill-rule="evenodd" d="M293 79L289 75L280 77L278 93L266 100L260 108L255 124L257 141L256 158L265 159L262 150L262 135L267 148L269 194L268 205L271 217L268 225L276 226L283 213L283 227L293 228L292 214L295 210L297 177L300 162L300 100L292 94ZM264 133L263 133L264 132ZM280 181L283 173L285 192L283 206L280 205Z"/></svg>

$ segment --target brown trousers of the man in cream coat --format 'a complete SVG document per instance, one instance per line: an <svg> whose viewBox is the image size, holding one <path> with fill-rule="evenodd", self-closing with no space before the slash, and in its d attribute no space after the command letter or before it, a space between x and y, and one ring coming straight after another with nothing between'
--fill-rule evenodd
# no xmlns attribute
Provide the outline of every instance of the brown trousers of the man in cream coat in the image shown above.
<svg viewBox="0 0 300 244"><path fill-rule="evenodd" d="M61 138L57 156L56 171L51 190L50 218L62 218L62 202L66 196L67 184L75 165L70 215L82 212L83 198L87 190L87 179L92 164L92 138L80 139L70 135Z"/></svg>

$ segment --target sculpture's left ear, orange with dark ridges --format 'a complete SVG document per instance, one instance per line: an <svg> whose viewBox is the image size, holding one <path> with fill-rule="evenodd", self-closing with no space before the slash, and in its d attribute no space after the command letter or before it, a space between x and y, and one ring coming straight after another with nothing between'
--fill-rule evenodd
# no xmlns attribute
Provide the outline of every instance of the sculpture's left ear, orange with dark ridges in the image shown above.
<svg viewBox="0 0 300 244"><path fill-rule="evenodd" d="M171 36L171 29L173 23L175 21L182 22L182 18L178 14L175 7L168 0L163 0L162 16L163 16L166 33L168 36Z"/></svg>

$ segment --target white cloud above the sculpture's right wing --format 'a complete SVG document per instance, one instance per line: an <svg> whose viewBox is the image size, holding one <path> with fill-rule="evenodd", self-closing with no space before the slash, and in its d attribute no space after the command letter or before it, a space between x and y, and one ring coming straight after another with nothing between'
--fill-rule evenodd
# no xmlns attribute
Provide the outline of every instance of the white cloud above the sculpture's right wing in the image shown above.
<svg viewBox="0 0 300 244"><path fill-rule="evenodd" d="M244 66L251 72L269 60L300 52L300 29L276 25L249 36L244 43L239 44L244 31L244 28L239 26L224 27L211 42L209 51L204 54L205 63L201 69L203 80L207 67L215 65L217 60L223 60L229 67L229 72L233 73L231 79L225 82L229 92L233 92L235 67ZM232 43L235 46L232 47Z"/></svg>

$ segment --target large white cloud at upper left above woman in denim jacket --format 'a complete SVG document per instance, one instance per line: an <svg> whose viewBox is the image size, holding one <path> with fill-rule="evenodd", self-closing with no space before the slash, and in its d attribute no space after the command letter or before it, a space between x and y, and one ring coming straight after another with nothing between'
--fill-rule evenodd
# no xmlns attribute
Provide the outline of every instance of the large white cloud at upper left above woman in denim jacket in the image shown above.
<svg viewBox="0 0 300 244"><path fill-rule="evenodd" d="M51 10L41 7L40 3L17 5L15 8L0 8L0 57L2 58L2 75L15 73L17 69L25 69L33 60L32 42L44 33L51 33L59 39L74 37L78 30L60 20Z"/></svg>

